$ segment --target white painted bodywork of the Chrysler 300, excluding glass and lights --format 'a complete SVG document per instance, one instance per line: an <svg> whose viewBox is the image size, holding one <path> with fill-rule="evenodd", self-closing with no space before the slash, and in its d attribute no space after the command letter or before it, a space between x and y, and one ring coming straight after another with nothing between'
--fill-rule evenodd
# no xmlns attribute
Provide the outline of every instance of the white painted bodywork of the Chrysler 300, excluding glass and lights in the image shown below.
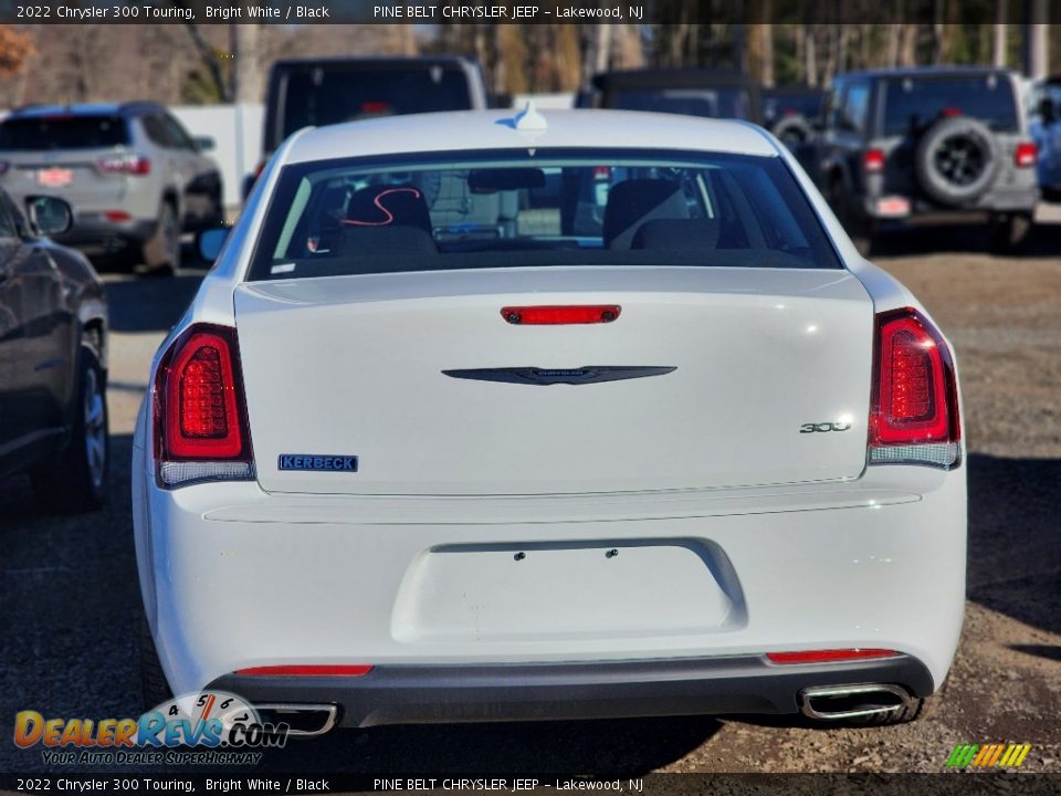
<svg viewBox="0 0 1061 796"><path fill-rule="evenodd" d="M307 661L431 667L839 648L897 650L938 689L964 612L965 468L865 465L873 314L921 305L858 255L763 130L651 114L546 115L544 132L514 130L498 112L338 125L303 130L274 155L159 354L193 323L237 327L259 481L161 489L149 409L137 422L137 562L174 691ZM610 147L649 149L661 125L668 148L782 158L847 270L243 281L286 164L578 146L601 129ZM498 314L554 301L623 313L580 328L577 345L570 328L516 327ZM677 369L574 389L440 373L597 364ZM414 376L424 370L437 376L430 390ZM719 373L739 389L712 389ZM587 401L587 390L612 400ZM504 406L493 399L501 395ZM580 423L556 420L577 400ZM713 437L690 427L701 417ZM849 432L800 439L801 423L839 419ZM605 449L593 444L601 434ZM303 452L360 455L363 469L356 479L277 471L280 454Z"/></svg>

